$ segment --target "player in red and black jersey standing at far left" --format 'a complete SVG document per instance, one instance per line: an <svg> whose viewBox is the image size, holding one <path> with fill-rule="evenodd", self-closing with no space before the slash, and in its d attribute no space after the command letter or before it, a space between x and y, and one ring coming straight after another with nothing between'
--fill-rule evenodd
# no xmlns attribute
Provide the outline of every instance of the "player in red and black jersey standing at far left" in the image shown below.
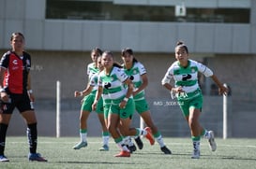
<svg viewBox="0 0 256 169"><path fill-rule="evenodd" d="M9 162L4 154L8 123L15 107L18 108L27 125L29 161L47 162L37 153L38 128L34 107L35 97L31 88L31 58L24 51L24 36L13 33L10 37L11 50L6 52L0 62L0 162Z"/></svg>

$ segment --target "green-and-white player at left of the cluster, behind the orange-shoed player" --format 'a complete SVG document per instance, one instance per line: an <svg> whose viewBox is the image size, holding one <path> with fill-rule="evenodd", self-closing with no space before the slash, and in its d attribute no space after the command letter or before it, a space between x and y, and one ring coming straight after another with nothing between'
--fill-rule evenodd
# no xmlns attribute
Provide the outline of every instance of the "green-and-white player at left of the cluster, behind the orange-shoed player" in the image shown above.
<svg viewBox="0 0 256 169"><path fill-rule="evenodd" d="M80 137L81 141L75 145L74 149L80 149L87 147L87 120L92 111L92 105L95 100L95 95L98 90L98 73L103 69L102 64L100 63L100 55L102 51L100 49L93 49L91 52L91 57L93 63L88 64L87 74L89 77L89 83L86 89L83 92L74 92L75 97L83 96L82 107L80 112ZM98 101L98 106L96 108L98 113L98 120L102 128L102 142L103 146L99 148L100 151L109 150L109 138L110 134L106 127L104 120L104 111L103 111L103 101L100 98Z"/></svg>

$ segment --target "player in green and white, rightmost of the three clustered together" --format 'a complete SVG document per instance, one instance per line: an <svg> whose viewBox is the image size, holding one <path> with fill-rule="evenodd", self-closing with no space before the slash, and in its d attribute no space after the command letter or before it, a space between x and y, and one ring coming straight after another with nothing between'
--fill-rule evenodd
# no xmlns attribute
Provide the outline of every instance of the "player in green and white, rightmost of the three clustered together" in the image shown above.
<svg viewBox="0 0 256 169"><path fill-rule="evenodd" d="M132 95L135 102L136 111L143 118L145 124L152 130L152 134L154 134L155 139L158 141L161 151L165 154L172 154L171 150L165 146L162 135L151 118L151 113L149 111L144 93L144 89L148 84L148 79L143 63L140 63L135 59L132 49L129 48L122 50L121 57L124 62L124 70L131 78L133 83ZM140 149L143 148L143 142L139 136L135 138L135 142Z"/></svg>

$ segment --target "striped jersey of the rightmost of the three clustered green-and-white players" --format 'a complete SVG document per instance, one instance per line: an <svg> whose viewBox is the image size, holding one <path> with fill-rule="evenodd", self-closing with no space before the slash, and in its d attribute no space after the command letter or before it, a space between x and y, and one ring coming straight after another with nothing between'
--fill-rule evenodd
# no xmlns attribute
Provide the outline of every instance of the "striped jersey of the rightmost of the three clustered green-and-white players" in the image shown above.
<svg viewBox="0 0 256 169"><path fill-rule="evenodd" d="M136 91L142 84L143 79L142 75L146 74L146 70L142 63L136 62L133 63L132 67L130 69L126 69L124 66L126 74L131 77L132 83L134 85L134 91ZM133 96L134 100L142 100L144 99L144 90Z"/></svg>

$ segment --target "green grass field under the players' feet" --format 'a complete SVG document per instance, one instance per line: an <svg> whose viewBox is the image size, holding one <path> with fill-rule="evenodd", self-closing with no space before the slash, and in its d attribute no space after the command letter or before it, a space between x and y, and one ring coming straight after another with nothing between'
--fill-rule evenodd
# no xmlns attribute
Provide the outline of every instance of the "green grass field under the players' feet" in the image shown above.
<svg viewBox="0 0 256 169"><path fill-rule="evenodd" d="M48 162L28 162L26 137L8 137L6 156L10 162L0 163L0 168L256 168L256 139L217 138L216 152L210 151L207 140L201 142L201 158L191 159L191 141L189 138L164 138L166 145L172 149L172 155L164 155L156 143L150 146L143 139L144 147L137 149L130 158L116 158L119 149L110 139L110 151L98 151L100 137L88 137L88 147L74 150L72 147L79 137L38 137L38 152Z"/></svg>

